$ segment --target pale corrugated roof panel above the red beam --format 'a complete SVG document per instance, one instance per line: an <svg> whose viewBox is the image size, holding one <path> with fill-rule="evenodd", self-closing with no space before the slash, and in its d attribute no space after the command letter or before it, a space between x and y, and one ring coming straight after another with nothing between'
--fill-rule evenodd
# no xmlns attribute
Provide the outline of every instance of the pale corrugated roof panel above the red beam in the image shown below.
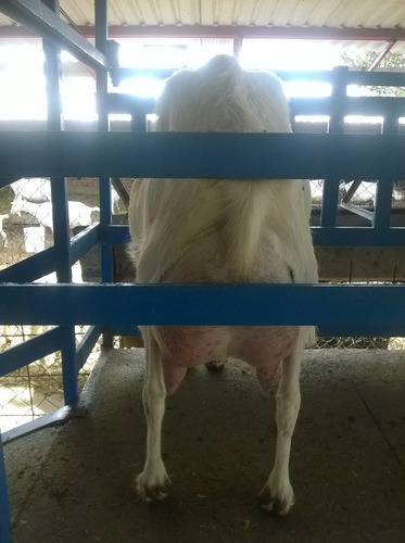
<svg viewBox="0 0 405 543"><path fill-rule="evenodd" d="M78 26L94 24L93 0L61 0ZM110 25L405 28L404 0L109 0ZM0 25L14 23L0 14Z"/></svg>

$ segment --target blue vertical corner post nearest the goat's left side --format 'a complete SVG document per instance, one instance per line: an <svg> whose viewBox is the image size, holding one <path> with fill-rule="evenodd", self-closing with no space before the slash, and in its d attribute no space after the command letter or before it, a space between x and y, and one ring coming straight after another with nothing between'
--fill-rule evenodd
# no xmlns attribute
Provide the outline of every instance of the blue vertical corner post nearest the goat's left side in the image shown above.
<svg viewBox="0 0 405 543"><path fill-rule="evenodd" d="M107 53L107 21L106 21L106 0L96 0L94 2L94 22L96 22L96 47L104 54ZM107 73L103 68L97 71L97 101L99 130L109 130L109 112L105 109L105 96L107 93ZM99 179L100 188L100 224L107 226L112 224L111 205L111 179L101 177ZM113 282L113 248L109 244L101 244L101 280L102 282ZM103 346L112 346L113 338L111 334L103 334Z"/></svg>

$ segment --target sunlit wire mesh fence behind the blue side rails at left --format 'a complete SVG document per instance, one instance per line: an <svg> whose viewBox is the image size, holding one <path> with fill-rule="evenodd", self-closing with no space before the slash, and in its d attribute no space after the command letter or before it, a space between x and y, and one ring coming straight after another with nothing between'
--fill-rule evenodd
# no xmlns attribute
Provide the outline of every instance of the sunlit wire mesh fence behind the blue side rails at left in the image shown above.
<svg viewBox="0 0 405 543"><path fill-rule="evenodd" d="M93 179L68 187L71 237L99 219L98 182ZM49 179L20 179L0 189L0 269L53 245L53 217ZM72 268L73 282L83 282L80 263ZM38 282L56 282L55 273ZM1 318L0 318L1 320ZM42 326L5 326L0 323L0 352L48 330ZM85 333L76 327L76 341ZM83 387L99 355L97 344L78 375ZM0 428L40 417L64 405L61 353L52 353L0 378Z"/></svg>

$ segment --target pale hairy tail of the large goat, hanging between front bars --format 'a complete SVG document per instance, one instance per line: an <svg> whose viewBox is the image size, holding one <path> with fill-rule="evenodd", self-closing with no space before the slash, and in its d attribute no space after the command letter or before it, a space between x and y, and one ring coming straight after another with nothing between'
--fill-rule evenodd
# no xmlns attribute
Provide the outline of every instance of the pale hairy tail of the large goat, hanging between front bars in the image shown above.
<svg viewBox="0 0 405 543"><path fill-rule="evenodd" d="M266 191L262 189L264 181L232 181L224 192L226 258L238 281L253 278L267 209Z"/></svg>

